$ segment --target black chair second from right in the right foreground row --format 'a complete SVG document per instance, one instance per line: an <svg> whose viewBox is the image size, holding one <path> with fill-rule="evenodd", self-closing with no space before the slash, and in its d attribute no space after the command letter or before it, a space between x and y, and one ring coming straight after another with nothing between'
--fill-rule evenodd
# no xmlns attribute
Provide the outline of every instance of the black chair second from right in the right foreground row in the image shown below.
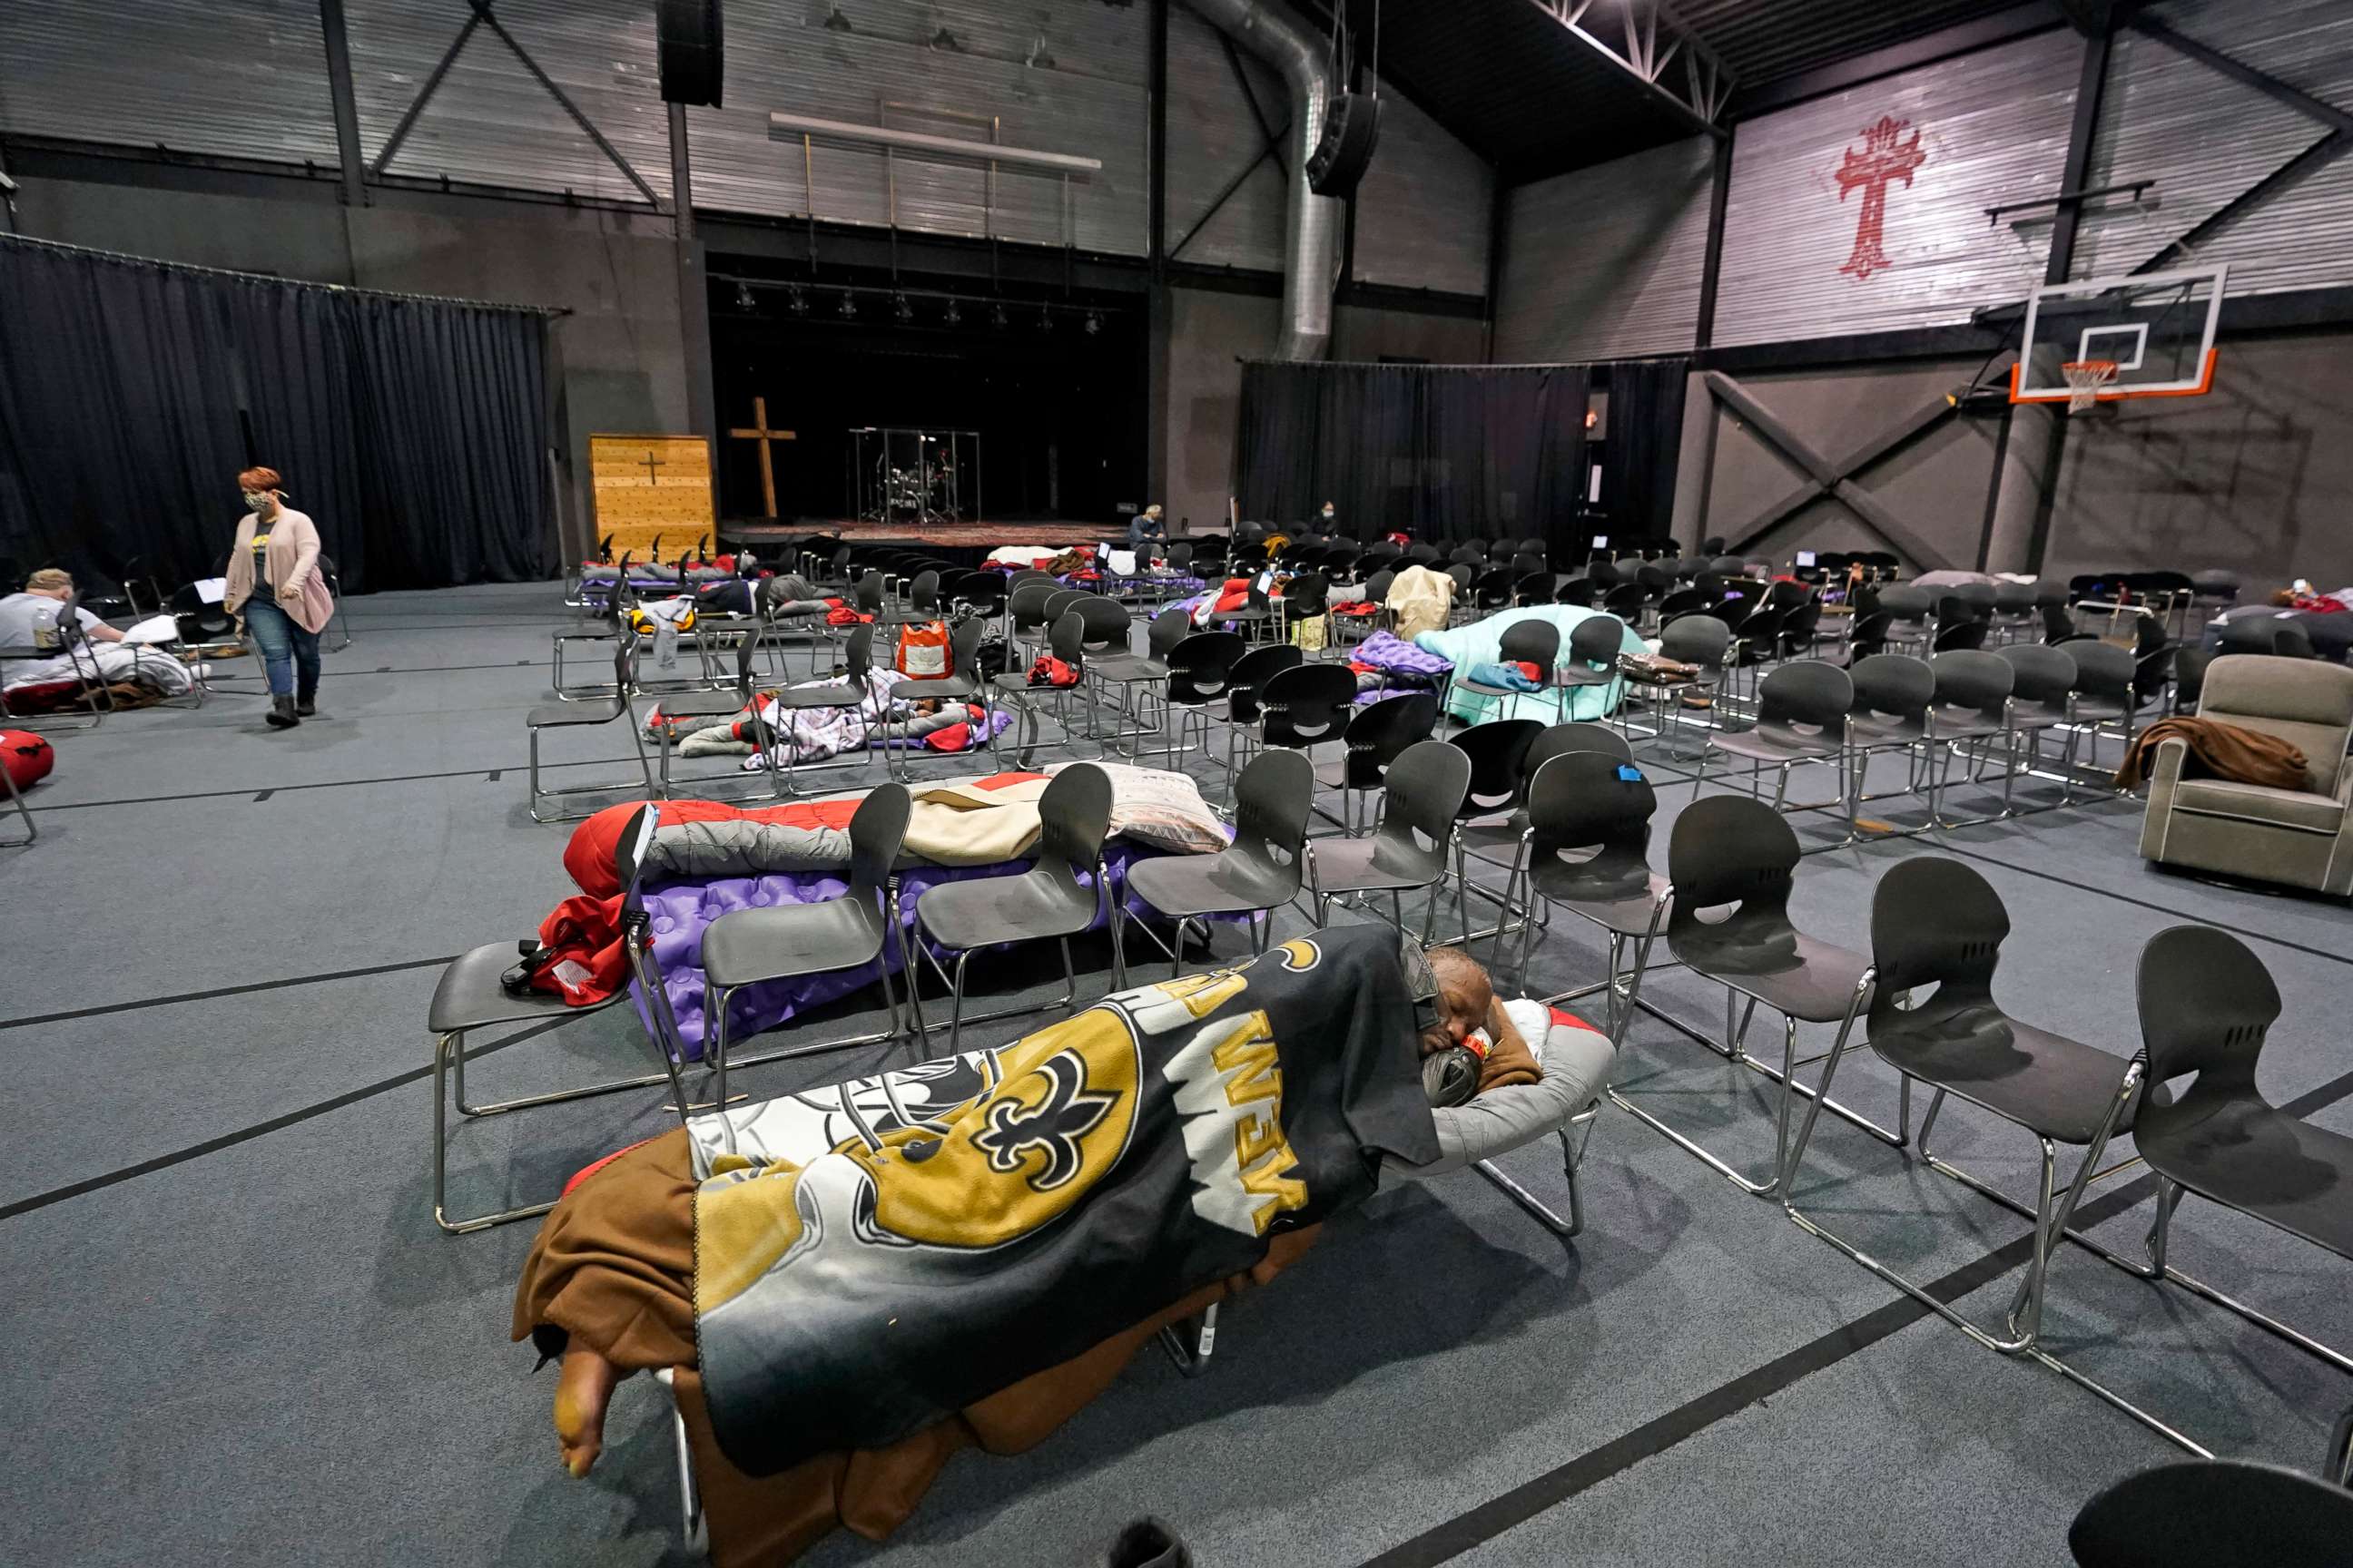
<svg viewBox="0 0 2353 1568"><path fill-rule="evenodd" d="M2118 1131L2132 1128L2129 1107L2141 1088L2141 1063L2038 1030L2005 1013L1993 999L1993 971L2007 936L2009 912L2002 910L1993 884L1977 870L1960 860L1929 856L1897 860L1871 896L1873 985L1864 1027L1873 1056L1937 1091L1920 1121L1920 1159L2035 1222L2033 1260L2009 1302L2007 1338L1979 1328L1911 1279L1798 1211L1798 1173L1805 1166L1805 1147L1814 1133L1821 1098L1807 1105L1798 1143L1791 1147L1784 1206L1805 1232L1861 1262L1962 1328L1979 1345L2054 1361L2049 1352L2040 1349L2049 1258L2059 1237L2066 1234L2068 1218L2082 1199L2092 1171L2099 1168L2108 1140ZM1913 997L1911 1006L1899 1006L1908 992L1929 987L1934 994ZM1864 992L1857 990L1849 1006L1849 1030L1852 1020L1864 1013ZM1831 1093L1831 1081L1838 1077L1838 1063L1847 1048L1845 1039L1831 1048L1821 1065L1819 1095ZM2035 1208L2024 1208L1929 1152L1937 1112L1944 1110L1946 1095L1967 1100L2035 1135L2042 1145L2042 1182ZM2064 1194L2057 1185L2059 1145L2085 1150Z"/></svg>

